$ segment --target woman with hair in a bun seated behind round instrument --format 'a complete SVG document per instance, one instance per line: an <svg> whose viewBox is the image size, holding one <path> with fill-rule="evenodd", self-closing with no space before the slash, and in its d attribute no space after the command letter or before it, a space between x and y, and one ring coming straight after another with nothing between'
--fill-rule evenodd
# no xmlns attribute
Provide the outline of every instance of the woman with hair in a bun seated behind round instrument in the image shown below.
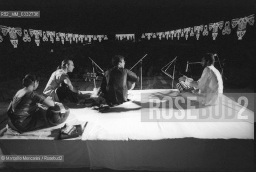
<svg viewBox="0 0 256 172"><path fill-rule="evenodd" d="M39 79L39 75L26 75L22 81L24 88L16 93L8 107L8 125L16 131L26 132L53 126L45 114L48 107L55 106L55 102L35 92Z"/></svg>

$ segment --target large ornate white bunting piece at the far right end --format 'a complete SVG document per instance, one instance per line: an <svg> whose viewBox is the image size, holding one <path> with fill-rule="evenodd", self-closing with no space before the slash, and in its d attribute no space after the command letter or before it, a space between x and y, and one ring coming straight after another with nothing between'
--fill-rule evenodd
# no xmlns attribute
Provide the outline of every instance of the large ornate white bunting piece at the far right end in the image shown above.
<svg viewBox="0 0 256 172"><path fill-rule="evenodd" d="M254 15L250 15L248 17L244 17L240 19L238 18L232 19L232 27L235 28L235 26L238 25L237 27L238 40L241 40L242 37L244 37L247 23L249 23L251 26L254 24Z"/></svg>

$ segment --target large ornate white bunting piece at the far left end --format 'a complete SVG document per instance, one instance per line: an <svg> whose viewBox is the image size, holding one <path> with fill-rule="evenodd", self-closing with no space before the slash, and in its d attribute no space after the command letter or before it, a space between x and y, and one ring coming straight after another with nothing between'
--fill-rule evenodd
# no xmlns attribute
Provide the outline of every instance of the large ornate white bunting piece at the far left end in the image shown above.
<svg viewBox="0 0 256 172"><path fill-rule="evenodd" d="M17 48L18 45L18 38L17 34L21 37L22 35L22 28L20 27L7 27L7 26L0 26L2 28L2 33L4 36L9 33L11 44L14 46L14 48Z"/></svg>

